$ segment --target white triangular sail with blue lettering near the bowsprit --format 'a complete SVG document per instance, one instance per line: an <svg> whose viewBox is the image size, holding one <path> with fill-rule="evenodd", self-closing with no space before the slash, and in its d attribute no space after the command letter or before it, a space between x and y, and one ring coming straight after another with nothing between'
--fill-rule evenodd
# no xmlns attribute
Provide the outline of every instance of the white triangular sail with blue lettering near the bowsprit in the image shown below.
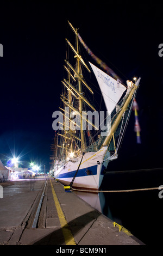
<svg viewBox="0 0 163 256"><path fill-rule="evenodd" d="M126 87L103 72L101 69L98 69L92 63L90 63L90 65L96 76L99 88L101 89L106 109L109 113L111 113L117 102L120 100L120 97L126 90Z"/></svg>

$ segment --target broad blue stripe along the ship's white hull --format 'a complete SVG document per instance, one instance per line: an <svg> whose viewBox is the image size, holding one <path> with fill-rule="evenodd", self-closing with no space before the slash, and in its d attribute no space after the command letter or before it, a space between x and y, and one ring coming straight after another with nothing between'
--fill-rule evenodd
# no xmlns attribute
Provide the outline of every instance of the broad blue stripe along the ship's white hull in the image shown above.
<svg viewBox="0 0 163 256"><path fill-rule="evenodd" d="M74 175L76 174L77 170L73 170L72 172L68 173L62 173L57 175L57 179L62 179L62 178L73 178ZM87 174L89 171L90 174ZM97 165L96 166L91 166L88 168L83 168L79 169L77 173L77 177L82 177L82 176L88 176L88 175L96 175L97 174Z"/></svg>

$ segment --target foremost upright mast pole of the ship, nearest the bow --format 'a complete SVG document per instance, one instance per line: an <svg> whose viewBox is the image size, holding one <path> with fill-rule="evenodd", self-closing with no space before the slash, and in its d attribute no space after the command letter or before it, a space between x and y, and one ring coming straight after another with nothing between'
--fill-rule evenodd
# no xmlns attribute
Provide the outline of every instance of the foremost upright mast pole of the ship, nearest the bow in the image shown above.
<svg viewBox="0 0 163 256"><path fill-rule="evenodd" d="M76 29L77 32L77 29ZM77 53L79 54L79 44L78 44L78 36L76 35L76 42L77 42ZM78 75L80 75L80 60L78 56L75 56L77 58L77 72ZM80 78L78 77L78 86L79 86L79 93L82 94L82 83ZM79 113L80 115L80 133L81 133L81 151L83 152L85 150L85 133L83 130L83 119L82 119L82 111L83 111L83 100L81 97L79 97Z"/></svg>

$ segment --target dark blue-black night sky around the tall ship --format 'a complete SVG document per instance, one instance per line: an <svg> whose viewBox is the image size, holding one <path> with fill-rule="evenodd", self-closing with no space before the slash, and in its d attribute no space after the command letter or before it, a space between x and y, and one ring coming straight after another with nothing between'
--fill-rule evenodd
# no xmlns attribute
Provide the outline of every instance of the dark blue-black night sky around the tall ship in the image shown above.
<svg viewBox="0 0 163 256"><path fill-rule="evenodd" d="M158 53L163 43L163 4L88 0L0 5L0 159L16 154L24 167L35 160L49 170L52 114L59 110L65 74L65 38L73 36L69 20L124 83L141 77L136 96L141 144L136 144L132 112L119 159L110 169L162 167L163 57ZM89 61L96 64L90 56Z"/></svg>

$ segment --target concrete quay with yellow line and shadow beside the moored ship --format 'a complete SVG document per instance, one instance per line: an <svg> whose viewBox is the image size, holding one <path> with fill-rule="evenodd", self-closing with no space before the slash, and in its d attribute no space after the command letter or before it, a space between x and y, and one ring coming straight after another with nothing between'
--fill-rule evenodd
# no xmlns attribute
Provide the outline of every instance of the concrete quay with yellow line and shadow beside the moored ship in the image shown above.
<svg viewBox="0 0 163 256"><path fill-rule="evenodd" d="M125 228L120 231L120 226L114 227L113 221L74 192L65 192L53 179L47 180L37 227L32 228L44 184L37 179L33 190L29 181L4 187L0 245L143 245Z"/></svg>

